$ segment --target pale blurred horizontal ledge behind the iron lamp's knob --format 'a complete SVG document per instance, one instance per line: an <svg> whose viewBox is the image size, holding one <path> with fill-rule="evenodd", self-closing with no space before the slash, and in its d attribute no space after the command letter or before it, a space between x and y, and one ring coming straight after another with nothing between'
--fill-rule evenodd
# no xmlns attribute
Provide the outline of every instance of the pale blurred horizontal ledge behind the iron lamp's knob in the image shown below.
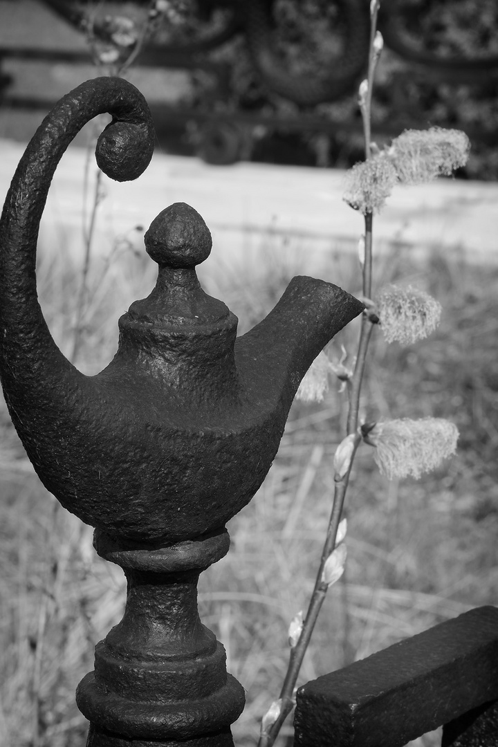
<svg viewBox="0 0 498 747"><path fill-rule="evenodd" d="M0 140L3 204L24 146ZM87 214L97 167L87 149L70 148L57 167L40 229L40 244L84 256L84 173ZM156 153L134 182L102 179L95 247L107 254L117 237L138 237L172 202L188 202L204 217L214 239L208 263L233 269L246 258L276 250L297 273L320 273L330 255L356 253L363 218L343 202L344 172L309 167L238 163L211 166L196 158ZM375 252L396 248L423 260L433 252L470 264L497 266L498 185L438 179L429 185L398 186L375 219ZM214 269L214 266L213 266Z"/></svg>

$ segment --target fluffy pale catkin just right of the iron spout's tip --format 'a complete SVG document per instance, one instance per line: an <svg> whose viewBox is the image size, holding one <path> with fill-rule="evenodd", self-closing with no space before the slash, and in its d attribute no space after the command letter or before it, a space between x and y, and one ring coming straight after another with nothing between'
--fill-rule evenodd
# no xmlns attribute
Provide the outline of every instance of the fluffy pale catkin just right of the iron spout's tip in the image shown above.
<svg viewBox="0 0 498 747"><path fill-rule="evenodd" d="M382 334L387 342L409 345L434 332L441 319L441 304L418 288L388 285L377 303Z"/></svg>

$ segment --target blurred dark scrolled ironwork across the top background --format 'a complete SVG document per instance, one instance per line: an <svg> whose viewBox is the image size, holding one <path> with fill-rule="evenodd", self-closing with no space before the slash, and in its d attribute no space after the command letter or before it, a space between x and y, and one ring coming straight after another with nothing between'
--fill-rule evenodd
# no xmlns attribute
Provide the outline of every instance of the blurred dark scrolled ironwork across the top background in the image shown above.
<svg viewBox="0 0 498 747"><path fill-rule="evenodd" d="M355 102L367 61L363 0L39 0L87 39L87 50L0 46L1 58L81 63L111 74L186 70L173 105L153 106L172 149L228 164L240 158L349 167L361 158ZM494 0L385 0L373 136L454 127L473 141L460 176L494 179L498 7ZM52 105L9 93L4 105ZM41 94L40 94L41 95Z"/></svg>

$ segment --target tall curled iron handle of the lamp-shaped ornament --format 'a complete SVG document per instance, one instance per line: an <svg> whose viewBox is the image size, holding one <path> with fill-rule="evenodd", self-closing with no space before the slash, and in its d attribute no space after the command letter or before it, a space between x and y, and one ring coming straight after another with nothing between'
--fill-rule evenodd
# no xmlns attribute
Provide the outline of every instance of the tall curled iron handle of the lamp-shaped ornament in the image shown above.
<svg viewBox="0 0 498 747"><path fill-rule="evenodd" d="M77 373L58 350L37 301L37 238L60 158L81 128L105 112L113 120L97 142L97 164L116 181L136 179L152 158L154 129L146 100L121 78L86 81L60 99L13 176L0 221L0 362L9 360L0 363L4 377L22 377L30 361L39 370L63 365Z"/></svg>

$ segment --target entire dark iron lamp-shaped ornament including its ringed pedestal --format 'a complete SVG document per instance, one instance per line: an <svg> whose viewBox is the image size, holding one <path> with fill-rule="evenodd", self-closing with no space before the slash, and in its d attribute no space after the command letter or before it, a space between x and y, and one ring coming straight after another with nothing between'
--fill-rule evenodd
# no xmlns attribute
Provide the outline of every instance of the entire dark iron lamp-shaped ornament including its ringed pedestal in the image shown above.
<svg viewBox="0 0 498 747"><path fill-rule="evenodd" d="M276 455L299 382L363 304L297 277L266 319L236 338L196 264L211 252L202 217L170 205L145 235L158 282L119 319L119 347L97 376L58 350L37 301L36 247L52 176L97 114L113 120L96 160L135 179L152 158L146 101L120 78L75 88L40 125L0 224L0 374L40 480L96 527L96 551L128 579L122 622L78 686L89 747L225 747L243 708L225 653L199 620L200 571L228 551L225 522L251 500Z"/></svg>

